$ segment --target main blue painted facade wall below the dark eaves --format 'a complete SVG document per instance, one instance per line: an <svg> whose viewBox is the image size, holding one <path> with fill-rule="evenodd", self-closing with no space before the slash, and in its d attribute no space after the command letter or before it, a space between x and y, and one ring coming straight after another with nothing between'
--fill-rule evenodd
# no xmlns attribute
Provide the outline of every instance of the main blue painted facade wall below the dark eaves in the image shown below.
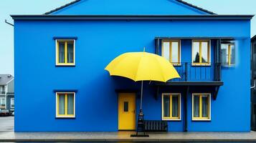
<svg viewBox="0 0 256 143"><path fill-rule="evenodd" d="M224 86L219 89L217 100L212 100L212 121L191 121L190 94L188 130L250 131L250 21L14 21L14 24L15 132L117 131L115 89L139 89L140 83L110 77L104 68L128 51L143 51L145 46L146 51L155 52L155 36L234 37L236 66L222 68ZM55 66L54 36L77 36L75 66ZM181 60L191 62L191 41L182 40L181 50ZM75 119L55 119L54 89L77 89ZM161 119L161 97L156 100L154 94L152 87L145 84L146 119ZM184 114L183 103L182 97L181 114ZM137 113L138 104L139 99ZM182 131L183 126L184 117L180 122L169 122L169 131Z"/></svg>

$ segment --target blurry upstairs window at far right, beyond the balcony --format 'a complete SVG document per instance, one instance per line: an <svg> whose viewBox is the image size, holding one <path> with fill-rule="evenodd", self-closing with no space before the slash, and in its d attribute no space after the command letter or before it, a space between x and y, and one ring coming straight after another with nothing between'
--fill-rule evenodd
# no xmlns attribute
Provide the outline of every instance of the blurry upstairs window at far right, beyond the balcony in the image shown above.
<svg viewBox="0 0 256 143"><path fill-rule="evenodd" d="M222 44L222 65L232 66L235 61L234 44Z"/></svg>

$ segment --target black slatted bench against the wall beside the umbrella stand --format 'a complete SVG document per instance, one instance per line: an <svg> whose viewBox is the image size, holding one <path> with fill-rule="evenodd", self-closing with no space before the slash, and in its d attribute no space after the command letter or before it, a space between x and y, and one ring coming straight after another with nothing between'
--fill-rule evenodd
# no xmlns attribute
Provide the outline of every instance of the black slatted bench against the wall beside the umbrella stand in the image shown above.
<svg viewBox="0 0 256 143"><path fill-rule="evenodd" d="M161 120L144 120L145 132L168 132L167 121Z"/></svg>

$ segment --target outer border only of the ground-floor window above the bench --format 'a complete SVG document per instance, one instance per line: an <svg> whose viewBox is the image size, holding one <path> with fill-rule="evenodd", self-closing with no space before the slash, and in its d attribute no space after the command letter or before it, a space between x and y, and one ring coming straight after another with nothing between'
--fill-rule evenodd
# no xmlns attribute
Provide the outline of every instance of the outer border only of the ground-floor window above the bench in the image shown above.
<svg viewBox="0 0 256 143"><path fill-rule="evenodd" d="M169 96L169 95L179 95L179 118L175 119L172 117L163 117L163 96ZM181 121L181 93L162 93L162 120L164 121Z"/></svg>

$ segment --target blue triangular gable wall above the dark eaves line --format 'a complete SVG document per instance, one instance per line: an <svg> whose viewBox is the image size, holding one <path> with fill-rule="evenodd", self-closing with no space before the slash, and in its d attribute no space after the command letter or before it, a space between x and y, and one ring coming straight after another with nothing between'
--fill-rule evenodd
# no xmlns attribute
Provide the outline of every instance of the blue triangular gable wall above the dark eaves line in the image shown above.
<svg viewBox="0 0 256 143"><path fill-rule="evenodd" d="M55 11L54 15L201 15L208 14L176 0L82 0Z"/></svg>

